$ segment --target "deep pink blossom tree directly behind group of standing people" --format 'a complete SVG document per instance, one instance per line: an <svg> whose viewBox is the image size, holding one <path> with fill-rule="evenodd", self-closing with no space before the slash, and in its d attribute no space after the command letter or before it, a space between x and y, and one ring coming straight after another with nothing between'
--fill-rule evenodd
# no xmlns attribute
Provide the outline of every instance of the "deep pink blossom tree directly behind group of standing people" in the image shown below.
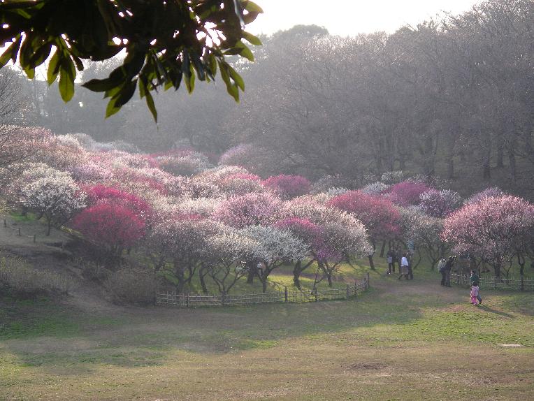
<svg viewBox="0 0 534 401"><path fill-rule="evenodd" d="M401 215L388 199L350 191L332 198L327 205L354 214L366 226L373 251L377 240L391 240L401 232ZM369 254L368 258L370 268L375 270L373 254Z"/></svg>

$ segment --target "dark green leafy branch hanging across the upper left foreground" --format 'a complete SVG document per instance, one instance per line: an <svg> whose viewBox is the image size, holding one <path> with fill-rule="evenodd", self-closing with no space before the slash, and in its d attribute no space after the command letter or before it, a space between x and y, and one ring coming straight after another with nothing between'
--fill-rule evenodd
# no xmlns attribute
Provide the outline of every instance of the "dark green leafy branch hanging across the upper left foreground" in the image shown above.
<svg viewBox="0 0 534 401"><path fill-rule="evenodd" d="M0 2L0 68L17 62L29 78L48 63L48 84L58 80L64 101L72 99L82 60L103 61L122 50L127 56L108 78L84 87L109 98L106 117L126 104L136 88L154 119L152 91L178 89L184 82L215 79L217 68L228 93L239 100L245 89L226 61L254 60L243 40L261 45L245 31L262 10L248 0L6 0Z"/></svg>

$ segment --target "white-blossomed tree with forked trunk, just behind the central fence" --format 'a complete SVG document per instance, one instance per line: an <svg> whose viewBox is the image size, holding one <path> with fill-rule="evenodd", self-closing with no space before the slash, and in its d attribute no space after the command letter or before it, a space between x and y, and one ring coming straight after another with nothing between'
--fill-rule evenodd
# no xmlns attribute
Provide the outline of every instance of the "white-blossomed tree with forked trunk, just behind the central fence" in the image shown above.
<svg viewBox="0 0 534 401"><path fill-rule="evenodd" d="M239 233L254 242L254 261L264 265L259 275L264 293L267 291L268 277L273 270L284 263L302 260L308 254L308 246L286 230L247 226Z"/></svg>

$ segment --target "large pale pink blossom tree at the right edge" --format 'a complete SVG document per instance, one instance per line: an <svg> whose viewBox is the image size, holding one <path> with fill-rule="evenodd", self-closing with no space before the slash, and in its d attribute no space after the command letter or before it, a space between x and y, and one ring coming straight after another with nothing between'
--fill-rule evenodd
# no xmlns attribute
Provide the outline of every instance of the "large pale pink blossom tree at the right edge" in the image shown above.
<svg viewBox="0 0 534 401"><path fill-rule="evenodd" d="M534 205L517 196L485 197L468 203L445 220L442 239L457 252L489 263L500 277L505 263L532 247Z"/></svg>

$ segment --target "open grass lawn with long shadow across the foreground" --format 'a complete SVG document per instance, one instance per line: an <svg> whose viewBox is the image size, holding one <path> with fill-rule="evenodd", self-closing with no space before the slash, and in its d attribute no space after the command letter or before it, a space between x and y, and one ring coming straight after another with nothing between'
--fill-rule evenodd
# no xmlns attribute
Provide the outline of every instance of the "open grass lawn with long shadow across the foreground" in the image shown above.
<svg viewBox="0 0 534 401"><path fill-rule="evenodd" d="M438 273L397 281L377 264L349 301L91 309L3 297L0 400L534 399L533 293L481 289L475 307ZM273 281L290 284L287 273Z"/></svg>

